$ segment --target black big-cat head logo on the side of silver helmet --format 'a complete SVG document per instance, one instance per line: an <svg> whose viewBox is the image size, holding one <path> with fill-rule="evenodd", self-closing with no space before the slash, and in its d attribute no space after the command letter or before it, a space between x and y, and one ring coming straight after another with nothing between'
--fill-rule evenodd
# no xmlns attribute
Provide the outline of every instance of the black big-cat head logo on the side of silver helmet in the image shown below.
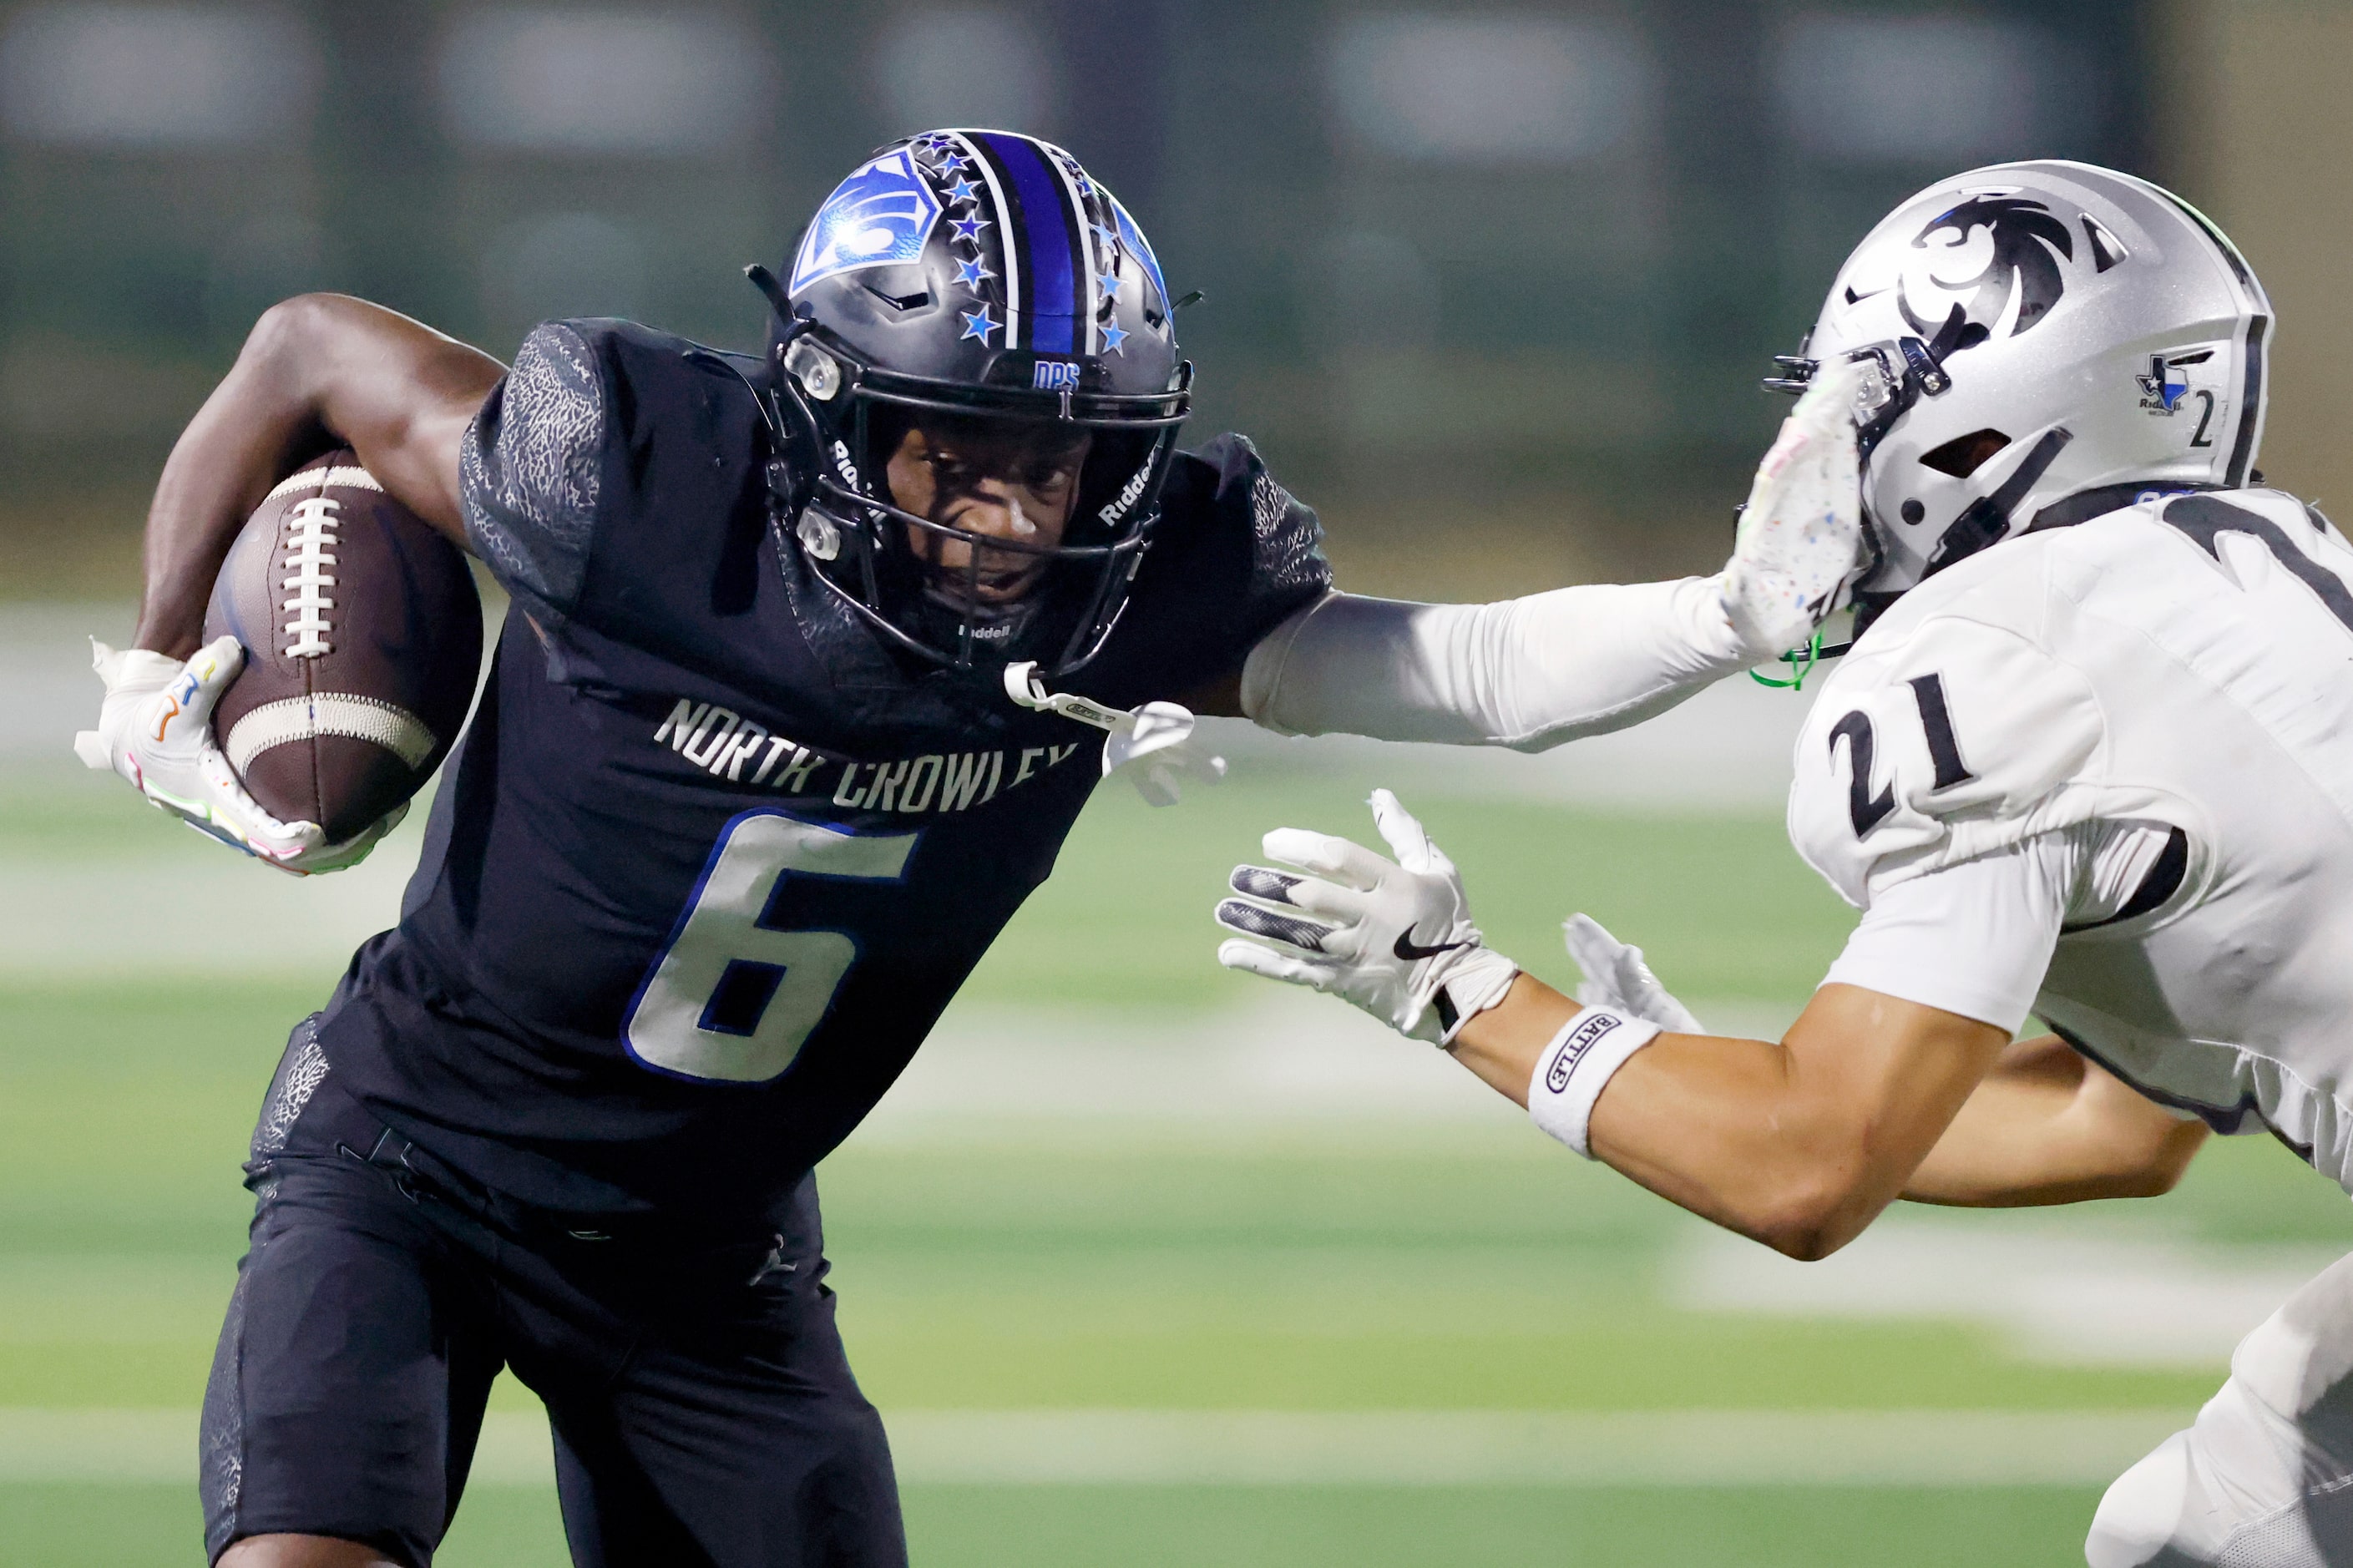
<svg viewBox="0 0 2353 1568"><path fill-rule="evenodd" d="M1953 334L1951 353L1995 334L2017 337L2049 315L2066 294L2059 261L2075 259L2075 235L2042 202L1972 195L1929 221L1911 250L1920 257L1904 266L1897 308L1920 337ZM1955 278L1955 261L1981 266Z"/></svg>

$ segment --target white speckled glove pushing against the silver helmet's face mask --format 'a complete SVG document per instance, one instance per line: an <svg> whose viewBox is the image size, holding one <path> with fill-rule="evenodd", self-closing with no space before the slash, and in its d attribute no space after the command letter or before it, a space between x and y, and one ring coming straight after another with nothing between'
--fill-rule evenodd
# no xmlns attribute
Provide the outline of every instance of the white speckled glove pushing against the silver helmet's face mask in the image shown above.
<svg viewBox="0 0 2353 1568"><path fill-rule="evenodd" d="M1758 464L1725 565L1725 614L1755 659L1802 647L1864 570L1864 487L1854 445L1861 370L1814 372Z"/></svg>

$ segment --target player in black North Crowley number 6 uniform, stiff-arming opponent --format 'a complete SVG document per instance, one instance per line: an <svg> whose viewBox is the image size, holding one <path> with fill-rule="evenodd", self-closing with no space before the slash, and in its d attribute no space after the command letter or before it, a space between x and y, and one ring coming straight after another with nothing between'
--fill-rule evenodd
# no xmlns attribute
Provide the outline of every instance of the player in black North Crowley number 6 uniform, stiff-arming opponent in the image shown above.
<svg viewBox="0 0 2353 1568"><path fill-rule="evenodd" d="M574 1561L901 1563L809 1172L1106 758L1181 735L1165 699L1553 744L1788 647L1828 603L1807 572L1854 565L1835 485L1788 478L1831 469L1784 443L1720 577L1334 596L1249 443L1176 452L1153 250L1031 137L882 148L786 280L753 271L758 360L574 320L506 370L289 301L165 469L85 756L280 866L355 845L242 796L205 735L238 652L198 650L271 485L351 445L513 596L400 925L264 1099L205 1396L214 1561L421 1568L508 1366L548 1406Z"/></svg>

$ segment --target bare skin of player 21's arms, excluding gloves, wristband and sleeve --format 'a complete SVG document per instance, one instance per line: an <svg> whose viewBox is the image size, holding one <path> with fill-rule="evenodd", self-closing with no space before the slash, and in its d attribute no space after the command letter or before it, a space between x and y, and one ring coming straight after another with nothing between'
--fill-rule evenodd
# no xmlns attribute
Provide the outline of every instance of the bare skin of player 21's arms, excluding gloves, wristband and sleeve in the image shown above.
<svg viewBox="0 0 2353 1568"><path fill-rule="evenodd" d="M1579 1005L1527 975L1454 1057L1527 1104ZM1826 984L1779 1045L1661 1034L1593 1104L1593 1158L1793 1257L1852 1241L1894 1198L2033 1208L2172 1191L2207 1125L2057 1036Z"/></svg>

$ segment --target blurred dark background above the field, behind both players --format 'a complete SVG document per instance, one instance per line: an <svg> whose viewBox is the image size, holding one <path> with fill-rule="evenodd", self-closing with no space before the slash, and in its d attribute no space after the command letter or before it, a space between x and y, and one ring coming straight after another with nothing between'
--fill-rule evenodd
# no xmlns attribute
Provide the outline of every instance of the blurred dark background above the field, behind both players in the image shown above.
<svg viewBox="0 0 2353 1568"><path fill-rule="evenodd" d="M2066 155L2235 224L2247 148L2285 139L2266 73L2346 9L0 7L0 570L14 598L134 591L155 466L278 297L499 356L576 313L751 344L741 264L929 125L1047 134L1120 191L1207 294L1195 438L1249 431L1355 586L1708 567L1781 412L1755 377L1873 219ZM2337 266L2334 205L2273 226Z"/></svg>

